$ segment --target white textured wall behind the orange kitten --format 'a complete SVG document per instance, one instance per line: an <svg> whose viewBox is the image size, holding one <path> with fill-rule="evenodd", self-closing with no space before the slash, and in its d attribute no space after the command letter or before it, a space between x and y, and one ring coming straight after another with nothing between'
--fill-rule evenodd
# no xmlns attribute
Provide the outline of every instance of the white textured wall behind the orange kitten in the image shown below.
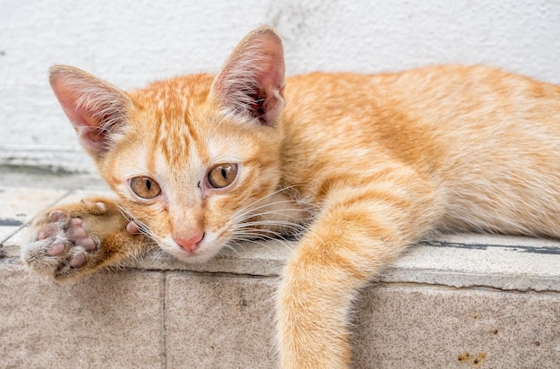
<svg viewBox="0 0 560 369"><path fill-rule="evenodd" d="M51 64L141 87L216 72L263 23L283 36L290 74L454 62L560 83L559 1L2 0L0 165L93 170L48 86Z"/></svg>

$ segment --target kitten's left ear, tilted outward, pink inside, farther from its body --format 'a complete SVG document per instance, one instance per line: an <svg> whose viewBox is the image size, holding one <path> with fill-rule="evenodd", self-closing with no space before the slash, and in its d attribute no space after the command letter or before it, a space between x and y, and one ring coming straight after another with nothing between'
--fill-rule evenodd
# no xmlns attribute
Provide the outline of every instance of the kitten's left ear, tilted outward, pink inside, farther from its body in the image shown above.
<svg viewBox="0 0 560 369"><path fill-rule="evenodd" d="M125 124L131 99L115 86L67 65L55 65L49 81L81 146L100 158Z"/></svg>

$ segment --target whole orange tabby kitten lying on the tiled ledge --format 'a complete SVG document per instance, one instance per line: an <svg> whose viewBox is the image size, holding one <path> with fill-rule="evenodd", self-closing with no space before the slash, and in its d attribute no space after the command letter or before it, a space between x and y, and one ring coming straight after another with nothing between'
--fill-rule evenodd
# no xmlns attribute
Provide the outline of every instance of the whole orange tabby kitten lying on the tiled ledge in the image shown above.
<svg viewBox="0 0 560 369"><path fill-rule="evenodd" d="M284 368L351 365L353 297L421 239L560 237L553 84L480 65L285 78L267 26L216 75L124 92L55 65L50 82L118 201L38 217L30 270L74 279L154 244L208 262L238 240L295 233L276 297Z"/></svg>

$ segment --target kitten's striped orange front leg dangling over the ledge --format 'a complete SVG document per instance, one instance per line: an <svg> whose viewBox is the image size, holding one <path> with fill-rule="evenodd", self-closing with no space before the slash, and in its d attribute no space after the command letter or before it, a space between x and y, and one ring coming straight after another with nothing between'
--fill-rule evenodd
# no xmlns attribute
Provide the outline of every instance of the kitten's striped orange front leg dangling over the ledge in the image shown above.
<svg viewBox="0 0 560 369"><path fill-rule="evenodd" d="M406 245L425 236L440 214L428 184L408 186L406 175L399 182L331 193L302 237L276 305L284 369L350 366L353 297Z"/></svg>

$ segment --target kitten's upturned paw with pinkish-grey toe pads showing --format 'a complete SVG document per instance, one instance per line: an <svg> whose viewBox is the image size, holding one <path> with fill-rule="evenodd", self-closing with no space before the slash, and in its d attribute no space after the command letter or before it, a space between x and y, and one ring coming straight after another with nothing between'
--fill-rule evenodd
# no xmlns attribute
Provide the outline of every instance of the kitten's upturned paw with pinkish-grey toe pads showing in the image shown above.
<svg viewBox="0 0 560 369"><path fill-rule="evenodd" d="M83 274L98 262L100 240L91 233L92 217L103 217L104 202L81 202L76 208L49 210L31 227L22 259L31 270L55 279Z"/></svg>

